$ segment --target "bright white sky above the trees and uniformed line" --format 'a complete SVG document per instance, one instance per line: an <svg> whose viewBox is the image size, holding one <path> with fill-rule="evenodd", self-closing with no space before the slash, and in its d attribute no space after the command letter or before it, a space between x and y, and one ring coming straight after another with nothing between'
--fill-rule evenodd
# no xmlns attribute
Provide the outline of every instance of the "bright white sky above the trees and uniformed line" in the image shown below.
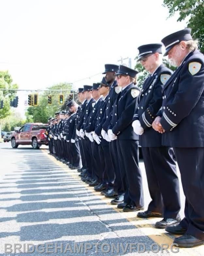
<svg viewBox="0 0 204 256"><path fill-rule="evenodd" d="M60 82L75 88L101 80L105 63L183 29L162 0L0 0L0 70L20 89Z"/></svg>

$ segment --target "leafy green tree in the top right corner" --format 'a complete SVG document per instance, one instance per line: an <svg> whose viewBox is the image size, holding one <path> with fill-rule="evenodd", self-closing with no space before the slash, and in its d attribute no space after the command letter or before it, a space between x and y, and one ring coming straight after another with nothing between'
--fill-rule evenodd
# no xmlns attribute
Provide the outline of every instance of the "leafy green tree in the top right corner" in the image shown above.
<svg viewBox="0 0 204 256"><path fill-rule="evenodd" d="M169 9L169 16L179 12L178 21L188 19L187 27L192 29L192 36L198 40L199 49L204 53L204 3L203 0L164 0Z"/></svg>

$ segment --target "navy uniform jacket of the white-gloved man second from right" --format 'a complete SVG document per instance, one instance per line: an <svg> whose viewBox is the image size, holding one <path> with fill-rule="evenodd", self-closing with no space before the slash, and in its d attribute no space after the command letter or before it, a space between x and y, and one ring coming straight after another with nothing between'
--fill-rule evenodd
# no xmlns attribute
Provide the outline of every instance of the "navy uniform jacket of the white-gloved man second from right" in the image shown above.
<svg viewBox="0 0 204 256"><path fill-rule="evenodd" d="M139 136L141 147L161 147L162 134L152 128L157 112L162 106L162 90L172 71L160 65L144 82L134 120L139 120L144 133Z"/></svg>

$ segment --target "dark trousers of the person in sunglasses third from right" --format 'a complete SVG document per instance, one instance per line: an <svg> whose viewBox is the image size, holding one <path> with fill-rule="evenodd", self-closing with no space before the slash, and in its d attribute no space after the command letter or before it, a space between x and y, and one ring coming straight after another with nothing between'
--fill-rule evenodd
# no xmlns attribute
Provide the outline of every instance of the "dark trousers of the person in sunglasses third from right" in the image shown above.
<svg viewBox="0 0 204 256"><path fill-rule="evenodd" d="M138 141L118 140L118 158L124 165L127 188L124 195L124 202L133 204L136 207L144 206L144 195L142 187L142 175L139 168ZM118 145L117 144L117 145ZM123 160L123 161L121 161ZM124 172L122 172L123 174Z"/></svg>

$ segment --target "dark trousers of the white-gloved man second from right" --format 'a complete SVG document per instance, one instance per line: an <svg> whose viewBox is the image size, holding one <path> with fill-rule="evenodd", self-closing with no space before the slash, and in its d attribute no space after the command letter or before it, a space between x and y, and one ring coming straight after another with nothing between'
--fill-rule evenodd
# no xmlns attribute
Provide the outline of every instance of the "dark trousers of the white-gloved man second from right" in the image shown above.
<svg viewBox="0 0 204 256"><path fill-rule="evenodd" d="M151 202L148 211L163 213L164 218L180 217L179 179L170 147L142 147Z"/></svg>

